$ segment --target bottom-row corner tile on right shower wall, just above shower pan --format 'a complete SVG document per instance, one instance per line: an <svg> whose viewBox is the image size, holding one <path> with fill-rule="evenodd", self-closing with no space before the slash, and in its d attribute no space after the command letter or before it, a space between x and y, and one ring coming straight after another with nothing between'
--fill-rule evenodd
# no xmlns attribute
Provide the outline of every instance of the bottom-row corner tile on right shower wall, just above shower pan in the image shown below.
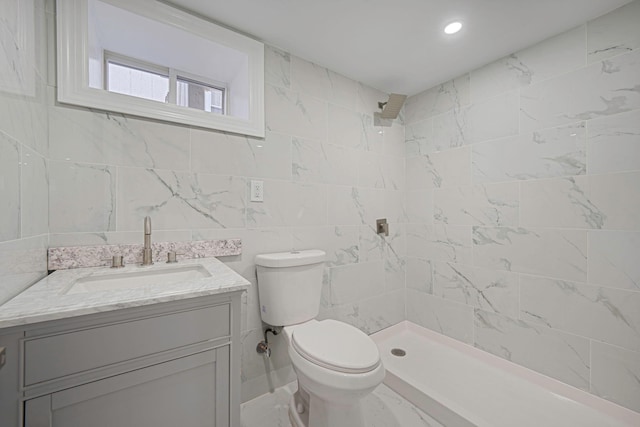
<svg viewBox="0 0 640 427"><path fill-rule="evenodd" d="M471 344L473 307L407 289L407 320Z"/></svg>

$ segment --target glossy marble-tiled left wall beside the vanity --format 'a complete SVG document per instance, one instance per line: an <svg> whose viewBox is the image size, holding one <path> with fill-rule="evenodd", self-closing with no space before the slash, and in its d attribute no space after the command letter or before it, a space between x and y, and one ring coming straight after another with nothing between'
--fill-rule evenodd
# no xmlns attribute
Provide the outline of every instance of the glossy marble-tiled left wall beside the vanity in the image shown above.
<svg viewBox="0 0 640 427"><path fill-rule="evenodd" d="M44 0L0 3L0 304L47 274Z"/></svg>

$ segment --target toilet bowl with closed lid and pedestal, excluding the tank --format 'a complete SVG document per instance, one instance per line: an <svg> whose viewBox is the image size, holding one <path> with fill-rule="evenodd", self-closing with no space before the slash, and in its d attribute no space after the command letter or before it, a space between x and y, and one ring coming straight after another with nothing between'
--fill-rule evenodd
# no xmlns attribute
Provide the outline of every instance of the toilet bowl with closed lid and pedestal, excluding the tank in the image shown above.
<svg viewBox="0 0 640 427"><path fill-rule="evenodd" d="M285 327L284 333L298 377L290 405L294 426L364 427L360 400L385 375L373 341L336 320L311 320Z"/></svg>

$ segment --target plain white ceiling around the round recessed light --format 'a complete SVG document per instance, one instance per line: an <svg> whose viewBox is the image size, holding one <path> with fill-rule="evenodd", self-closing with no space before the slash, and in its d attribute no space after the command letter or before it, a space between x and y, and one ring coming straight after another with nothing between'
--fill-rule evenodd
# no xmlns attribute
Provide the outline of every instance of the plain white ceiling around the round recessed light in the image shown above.
<svg viewBox="0 0 640 427"><path fill-rule="evenodd" d="M630 0L170 0L385 92L413 95ZM447 36L445 24L463 29Z"/></svg>

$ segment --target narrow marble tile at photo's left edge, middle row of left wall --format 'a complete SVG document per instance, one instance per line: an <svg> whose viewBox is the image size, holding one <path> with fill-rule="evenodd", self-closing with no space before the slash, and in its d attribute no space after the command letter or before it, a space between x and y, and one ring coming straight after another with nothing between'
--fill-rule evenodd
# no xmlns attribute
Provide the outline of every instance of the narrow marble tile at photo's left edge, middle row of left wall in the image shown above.
<svg viewBox="0 0 640 427"><path fill-rule="evenodd" d="M17 141L0 132L0 241L20 237L20 149Z"/></svg>

